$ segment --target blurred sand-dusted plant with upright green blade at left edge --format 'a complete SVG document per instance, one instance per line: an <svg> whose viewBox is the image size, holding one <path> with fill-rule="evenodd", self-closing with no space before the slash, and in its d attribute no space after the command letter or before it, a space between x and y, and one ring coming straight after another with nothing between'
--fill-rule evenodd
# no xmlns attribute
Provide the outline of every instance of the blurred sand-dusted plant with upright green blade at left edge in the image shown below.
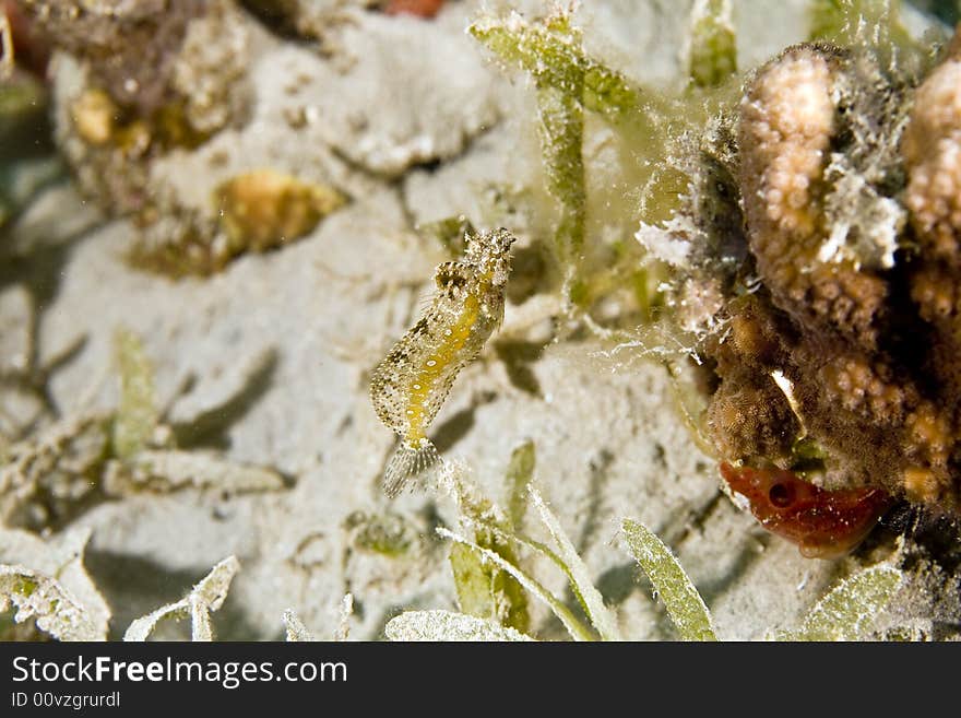
<svg viewBox="0 0 961 718"><path fill-rule="evenodd" d="M162 423L153 364L143 342L118 328L114 337L120 399L114 412L81 412L0 446L0 521L36 531L61 527L92 505L139 492L216 487L278 491L273 469L232 463L177 447Z"/></svg>

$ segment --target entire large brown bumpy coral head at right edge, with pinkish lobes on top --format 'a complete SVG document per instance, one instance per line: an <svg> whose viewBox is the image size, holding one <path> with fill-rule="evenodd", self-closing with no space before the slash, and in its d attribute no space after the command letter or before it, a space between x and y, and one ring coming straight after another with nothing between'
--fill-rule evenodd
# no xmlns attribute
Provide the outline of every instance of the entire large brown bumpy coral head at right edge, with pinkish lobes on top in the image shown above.
<svg viewBox="0 0 961 718"><path fill-rule="evenodd" d="M920 82L864 48L788 48L749 80L737 145L749 257L700 345L719 455L957 513L958 54Z"/></svg>

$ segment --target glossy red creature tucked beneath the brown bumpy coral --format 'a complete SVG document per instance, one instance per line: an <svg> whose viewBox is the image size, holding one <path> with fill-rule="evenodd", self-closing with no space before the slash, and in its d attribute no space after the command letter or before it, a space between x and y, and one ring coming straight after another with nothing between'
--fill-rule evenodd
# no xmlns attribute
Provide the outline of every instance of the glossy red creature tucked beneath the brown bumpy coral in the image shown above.
<svg viewBox="0 0 961 718"><path fill-rule="evenodd" d="M849 553L893 503L879 489L827 491L785 469L723 462L721 475L748 499L761 526L796 543L808 558L837 558Z"/></svg>

